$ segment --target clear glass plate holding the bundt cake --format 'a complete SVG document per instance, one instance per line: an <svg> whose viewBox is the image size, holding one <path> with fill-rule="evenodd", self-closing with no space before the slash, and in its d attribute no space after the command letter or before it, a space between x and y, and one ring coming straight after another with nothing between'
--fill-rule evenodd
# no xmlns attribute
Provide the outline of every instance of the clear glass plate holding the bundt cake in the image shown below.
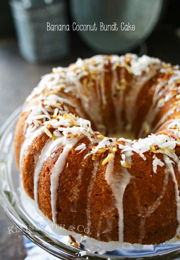
<svg viewBox="0 0 180 260"><path fill-rule="evenodd" d="M19 118L19 107L0 131L0 203L13 224L32 242L60 259L180 259L180 241L171 239L160 245L131 245L119 242L102 243L82 237L53 225L37 209L34 201L23 191L14 156L13 132ZM69 241L72 234L80 246ZM163 234L162 234L163 236ZM87 251L81 257L79 252Z"/></svg>

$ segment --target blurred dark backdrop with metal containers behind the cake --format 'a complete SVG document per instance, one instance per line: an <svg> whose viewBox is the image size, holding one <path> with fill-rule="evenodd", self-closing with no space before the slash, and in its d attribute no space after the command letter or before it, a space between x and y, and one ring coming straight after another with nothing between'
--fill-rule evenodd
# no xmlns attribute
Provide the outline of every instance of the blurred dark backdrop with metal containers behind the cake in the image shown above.
<svg viewBox="0 0 180 260"><path fill-rule="evenodd" d="M95 54L147 54L180 64L179 0L11 0L0 8L0 127L40 77ZM47 31L69 24L70 31ZM72 23L117 23L118 31L73 31ZM135 31L121 31L121 22ZM21 233L0 209L0 259L24 259Z"/></svg>

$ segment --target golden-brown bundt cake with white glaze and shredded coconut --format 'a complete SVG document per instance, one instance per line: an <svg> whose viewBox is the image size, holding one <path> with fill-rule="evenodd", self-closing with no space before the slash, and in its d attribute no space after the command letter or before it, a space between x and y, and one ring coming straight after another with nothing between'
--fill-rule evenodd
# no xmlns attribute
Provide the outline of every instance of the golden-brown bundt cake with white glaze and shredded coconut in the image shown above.
<svg viewBox="0 0 180 260"><path fill-rule="evenodd" d="M179 238L179 66L126 54L53 68L14 142L24 189L54 223L103 242Z"/></svg>

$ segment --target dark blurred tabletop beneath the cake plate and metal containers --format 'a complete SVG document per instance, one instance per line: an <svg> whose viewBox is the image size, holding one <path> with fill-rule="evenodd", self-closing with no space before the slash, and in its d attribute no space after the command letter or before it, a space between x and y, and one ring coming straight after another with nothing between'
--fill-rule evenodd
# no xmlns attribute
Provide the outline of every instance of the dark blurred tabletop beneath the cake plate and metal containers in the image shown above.
<svg viewBox="0 0 180 260"><path fill-rule="evenodd" d="M172 64L180 64L180 40L170 28L156 30L147 41L148 55L159 57ZM15 38L0 39L0 127L21 105L41 75L49 73L54 66L67 66L77 57L90 57L94 53L87 48L74 47L71 55L59 62L45 65L28 64L19 55ZM26 252L20 233L8 234L12 222L0 207L0 260L24 259Z"/></svg>

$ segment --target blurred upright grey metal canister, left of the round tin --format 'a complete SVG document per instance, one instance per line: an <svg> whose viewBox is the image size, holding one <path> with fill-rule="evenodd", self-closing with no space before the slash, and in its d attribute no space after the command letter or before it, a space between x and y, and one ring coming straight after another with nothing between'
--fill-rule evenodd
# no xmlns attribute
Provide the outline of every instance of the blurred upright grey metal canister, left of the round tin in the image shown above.
<svg viewBox="0 0 180 260"><path fill-rule="evenodd" d="M42 2L42 1L41 1ZM19 49L29 62L49 62L69 53L68 31L47 31L50 24L67 24L65 0L31 5L10 1Z"/></svg>

